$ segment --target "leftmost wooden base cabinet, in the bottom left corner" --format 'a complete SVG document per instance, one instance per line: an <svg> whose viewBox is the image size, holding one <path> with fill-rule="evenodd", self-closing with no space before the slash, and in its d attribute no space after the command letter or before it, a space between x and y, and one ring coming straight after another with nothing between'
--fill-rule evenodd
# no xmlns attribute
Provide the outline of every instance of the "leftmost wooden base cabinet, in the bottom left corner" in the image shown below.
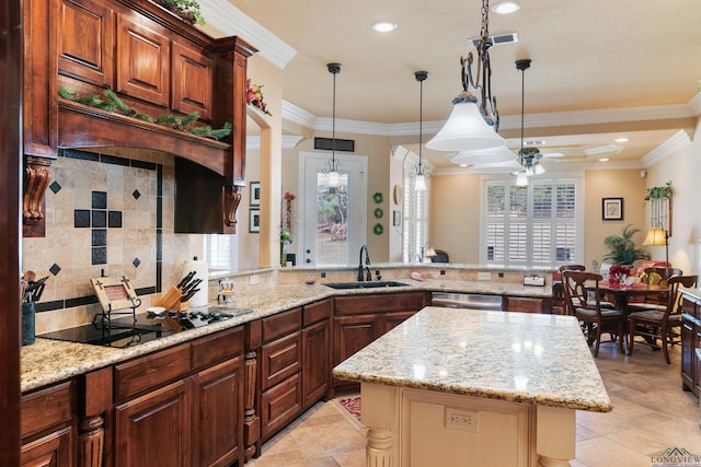
<svg viewBox="0 0 701 467"><path fill-rule="evenodd" d="M22 466L74 465L73 383L22 396Z"/></svg>

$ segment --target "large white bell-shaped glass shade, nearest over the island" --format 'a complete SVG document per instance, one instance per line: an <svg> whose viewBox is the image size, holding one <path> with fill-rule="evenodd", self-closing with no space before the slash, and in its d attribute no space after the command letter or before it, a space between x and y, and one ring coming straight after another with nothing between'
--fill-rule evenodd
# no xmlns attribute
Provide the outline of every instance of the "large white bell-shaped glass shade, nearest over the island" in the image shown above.
<svg viewBox="0 0 701 467"><path fill-rule="evenodd" d="M436 151L476 151L505 145L506 140L489 126L472 101L453 104L448 121L426 143Z"/></svg>

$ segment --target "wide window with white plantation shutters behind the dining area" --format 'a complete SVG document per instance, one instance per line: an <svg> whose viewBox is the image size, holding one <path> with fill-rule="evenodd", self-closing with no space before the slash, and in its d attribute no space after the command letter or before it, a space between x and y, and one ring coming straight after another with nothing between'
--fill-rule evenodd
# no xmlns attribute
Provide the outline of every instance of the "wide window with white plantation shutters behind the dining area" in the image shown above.
<svg viewBox="0 0 701 467"><path fill-rule="evenodd" d="M583 262L578 179L485 180L481 258L495 266Z"/></svg>

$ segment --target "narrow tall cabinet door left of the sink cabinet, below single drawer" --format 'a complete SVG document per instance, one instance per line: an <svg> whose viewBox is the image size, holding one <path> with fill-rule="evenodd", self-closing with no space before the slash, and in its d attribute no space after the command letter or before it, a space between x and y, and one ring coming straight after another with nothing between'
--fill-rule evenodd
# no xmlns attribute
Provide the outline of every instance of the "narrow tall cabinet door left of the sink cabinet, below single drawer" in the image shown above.
<svg viewBox="0 0 701 467"><path fill-rule="evenodd" d="M302 396L304 408L319 400L329 388L331 325L329 319L302 330Z"/></svg>

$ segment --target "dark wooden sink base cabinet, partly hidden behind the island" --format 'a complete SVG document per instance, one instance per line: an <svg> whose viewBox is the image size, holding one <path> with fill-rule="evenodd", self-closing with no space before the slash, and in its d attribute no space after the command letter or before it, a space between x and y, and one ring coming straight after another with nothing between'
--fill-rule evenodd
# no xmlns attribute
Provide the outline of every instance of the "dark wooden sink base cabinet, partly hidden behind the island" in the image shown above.
<svg viewBox="0 0 701 467"><path fill-rule="evenodd" d="M333 365L346 360L428 303L425 292L378 293L334 297ZM335 389L358 387L333 380Z"/></svg>

